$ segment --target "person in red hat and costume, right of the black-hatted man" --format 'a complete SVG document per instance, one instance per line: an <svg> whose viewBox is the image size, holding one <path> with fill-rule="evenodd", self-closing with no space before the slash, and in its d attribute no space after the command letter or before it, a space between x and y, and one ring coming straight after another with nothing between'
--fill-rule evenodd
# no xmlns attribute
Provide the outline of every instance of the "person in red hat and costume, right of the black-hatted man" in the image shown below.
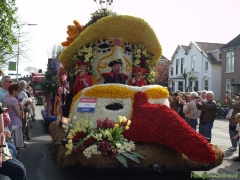
<svg viewBox="0 0 240 180"><path fill-rule="evenodd" d="M146 86L147 82L146 80L143 78L144 75L147 73L147 70L144 68L140 68L140 67L134 67L132 70L132 73L134 75L134 77L132 78L132 81L130 82L131 86Z"/></svg>

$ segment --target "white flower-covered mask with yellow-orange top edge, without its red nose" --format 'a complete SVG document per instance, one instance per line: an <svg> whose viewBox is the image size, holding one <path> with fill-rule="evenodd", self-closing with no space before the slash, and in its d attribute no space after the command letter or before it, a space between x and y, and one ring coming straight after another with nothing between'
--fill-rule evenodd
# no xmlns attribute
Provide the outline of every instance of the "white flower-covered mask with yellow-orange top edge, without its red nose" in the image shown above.
<svg viewBox="0 0 240 180"><path fill-rule="evenodd" d="M151 90L154 89L154 90ZM117 121L119 114L123 114L128 119L132 118L134 94L138 91L146 92L148 101L152 104L164 104L169 106L168 91L166 88L159 85L149 85L142 87L127 86L122 84L104 84L94 85L80 91L73 101L70 109L69 117L76 116L80 118L82 115L89 117L93 124L97 118L111 117L112 121ZM96 107L93 113L77 112L80 98L97 98ZM111 111L106 109L110 104L120 104L122 109Z"/></svg>

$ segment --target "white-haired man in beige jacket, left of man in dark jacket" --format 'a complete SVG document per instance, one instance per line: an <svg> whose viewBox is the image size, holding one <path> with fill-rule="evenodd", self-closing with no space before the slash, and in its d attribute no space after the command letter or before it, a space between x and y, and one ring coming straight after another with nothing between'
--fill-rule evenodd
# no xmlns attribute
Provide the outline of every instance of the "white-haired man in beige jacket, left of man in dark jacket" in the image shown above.
<svg viewBox="0 0 240 180"><path fill-rule="evenodd" d="M198 94L196 92L191 92L189 100L190 102L186 103L186 107L183 108L183 113L185 114L185 119L187 123L196 131L196 127L198 125L198 117L200 115L200 111L196 107L196 98Z"/></svg>

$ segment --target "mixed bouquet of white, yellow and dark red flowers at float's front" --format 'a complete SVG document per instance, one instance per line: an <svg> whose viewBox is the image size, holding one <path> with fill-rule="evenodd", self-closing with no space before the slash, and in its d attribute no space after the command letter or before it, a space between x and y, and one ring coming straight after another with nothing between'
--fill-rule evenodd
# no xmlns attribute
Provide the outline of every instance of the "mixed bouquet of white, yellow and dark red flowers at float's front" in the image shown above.
<svg viewBox="0 0 240 180"><path fill-rule="evenodd" d="M101 154L105 157L116 157L126 167L126 158L138 163L138 157L143 158L134 151L134 142L128 141L122 135L131 124L125 116L119 116L117 123L109 118L98 119L97 126L93 126L91 121L84 117L73 119L74 124L62 125L67 132L66 143L63 144L67 148L66 156L83 153L89 159L93 155Z"/></svg>

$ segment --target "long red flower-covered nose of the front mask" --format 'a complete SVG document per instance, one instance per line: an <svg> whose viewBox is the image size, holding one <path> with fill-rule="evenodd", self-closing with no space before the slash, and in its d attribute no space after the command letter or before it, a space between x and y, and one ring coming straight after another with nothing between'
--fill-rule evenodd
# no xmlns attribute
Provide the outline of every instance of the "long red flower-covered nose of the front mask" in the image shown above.
<svg viewBox="0 0 240 180"><path fill-rule="evenodd" d="M134 96L131 121L129 130L124 132L129 140L163 144L198 162L216 161L216 154L205 137L171 108L148 103L144 92L137 92Z"/></svg>

